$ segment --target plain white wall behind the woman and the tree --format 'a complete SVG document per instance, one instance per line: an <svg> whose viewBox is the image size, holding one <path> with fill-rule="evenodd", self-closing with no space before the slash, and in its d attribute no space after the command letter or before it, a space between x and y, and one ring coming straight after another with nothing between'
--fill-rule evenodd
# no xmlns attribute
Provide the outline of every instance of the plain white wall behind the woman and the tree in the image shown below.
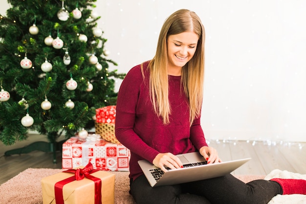
<svg viewBox="0 0 306 204"><path fill-rule="evenodd" d="M152 59L162 23L175 10L200 16L206 29L207 138L306 141L306 1L98 0L96 5L109 58L119 64L111 68L119 72Z"/></svg>

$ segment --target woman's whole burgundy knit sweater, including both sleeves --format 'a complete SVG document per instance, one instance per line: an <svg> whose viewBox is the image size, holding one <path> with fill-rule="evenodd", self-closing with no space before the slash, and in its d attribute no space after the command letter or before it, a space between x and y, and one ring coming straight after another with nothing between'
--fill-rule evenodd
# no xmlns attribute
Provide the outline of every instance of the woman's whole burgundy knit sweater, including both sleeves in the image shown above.
<svg viewBox="0 0 306 204"><path fill-rule="evenodd" d="M115 134L131 150L130 178L142 175L137 163L147 159L151 163L158 153L174 155L195 152L208 146L200 117L190 127L188 98L183 93L180 76L169 75L170 124L164 125L153 110L149 95L148 62L144 63L145 79L140 65L131 68L118 92Z"/></svg>

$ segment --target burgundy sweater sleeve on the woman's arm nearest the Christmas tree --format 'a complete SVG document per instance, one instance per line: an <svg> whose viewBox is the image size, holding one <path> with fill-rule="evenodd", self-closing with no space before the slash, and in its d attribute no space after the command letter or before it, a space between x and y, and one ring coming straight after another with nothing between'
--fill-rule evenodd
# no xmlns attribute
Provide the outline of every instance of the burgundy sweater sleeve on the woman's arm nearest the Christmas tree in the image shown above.
<svg viewBox="0 0 306 204"><path fill-rule="evenodd" d="M133 130L142 83L143 76L139 66L132 68L123 80L117 98L115 135L131 152L153 162L158 152L148 146Z"/></svg>

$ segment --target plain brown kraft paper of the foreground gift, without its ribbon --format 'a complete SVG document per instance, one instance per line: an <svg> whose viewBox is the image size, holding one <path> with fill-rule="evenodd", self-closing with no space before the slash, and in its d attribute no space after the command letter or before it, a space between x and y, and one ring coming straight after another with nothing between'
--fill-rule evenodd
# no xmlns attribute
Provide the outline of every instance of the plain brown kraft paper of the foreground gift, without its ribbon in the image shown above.
<svg viewBox="0 0 306 204"><path fill-rule="evenodd" d="M88 165L89 164L90 163L88 163ZM101 179L101 192L99 191L101 194L95 195L95 182L85 177L82 180L71 181L64 184L62 192L65 204L101 204L101 202L102 204L114 204L115 175L106 171L95 169L94 171L96 172L89 172L89 174L95 177L95 179ZM58 204L55 200L56 183L74 176L74 173L61 172L43 178L43 204ZM99 198L99 196L101 196L100 200L95 199L95 197Z"/></svg>

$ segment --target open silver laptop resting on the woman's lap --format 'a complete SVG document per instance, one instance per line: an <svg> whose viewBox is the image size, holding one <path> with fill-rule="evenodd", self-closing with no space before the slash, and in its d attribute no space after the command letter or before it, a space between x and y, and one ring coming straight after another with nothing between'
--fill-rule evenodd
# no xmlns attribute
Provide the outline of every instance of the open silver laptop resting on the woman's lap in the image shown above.
<svg viewBox="0 0 306 204"><path fill-rule="evenodd" d="M231 173L251 158L223 161L207 164L199 152L176 155L184 168L169 169L163 172L147 160L139 160L138 164L152 187L173 185L184 182L211 179Z"/></svg>

